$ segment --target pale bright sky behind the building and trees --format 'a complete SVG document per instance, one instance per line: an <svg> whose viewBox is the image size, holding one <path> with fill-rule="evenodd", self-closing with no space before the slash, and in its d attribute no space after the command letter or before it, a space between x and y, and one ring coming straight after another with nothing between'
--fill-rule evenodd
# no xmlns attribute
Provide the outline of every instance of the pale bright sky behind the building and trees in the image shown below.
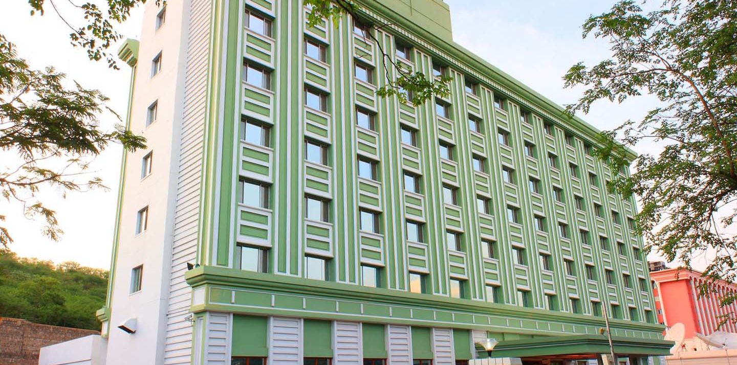
<svg viewBox="0 0 737 365"><path fill-rule="evenodd" d="M59 1L61 11L72 11ZM576 101L581 89L564 89L562 76L570 65L596 63L609 56L607 43L581 38L581 24L592 14L603 13L613 4L601 0L502 1L446 0L450 5L455 42L480 55L489 63L519 79L558 104ZM85 52L69 45L69 29L54 14L30 16L27 1L3 1L0 34L17 45L18 54L34 68L54 65L85 88L95 88L110 98L109 105L122 116L128 103L130 68L111 70L105 63L88 60ZM127 38L139 38L142 11L136 10L119 29ZM117 46L111 48L113 52ZM657 105L644 96L612 104L597 102L584 120L599 130L610 130L629 118L638 119ZM119 123L106 116L102 127ZM654 146L638 146L640 153L654 152ZM85 266L108 269L113 242L120 160L122 149L109 146L92 170L102 177L108 191L67 194L44 191L41 199L57 212L64 234L51 241L40 233L41 224L25 219L17 206L3 202L0 213L7 215L7 227L15 238L11 249L23 257L77 261ZM4 164L0 160L0 168ZM654 258L654 257L653 257ZM696 268L705 260L696 260Z"/></svg>

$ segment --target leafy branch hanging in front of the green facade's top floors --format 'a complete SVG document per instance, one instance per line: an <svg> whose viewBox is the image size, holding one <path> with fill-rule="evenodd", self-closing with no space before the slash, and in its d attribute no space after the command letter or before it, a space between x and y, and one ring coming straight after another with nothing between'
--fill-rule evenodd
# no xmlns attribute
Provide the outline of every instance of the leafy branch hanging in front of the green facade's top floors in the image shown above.
<svg viewBox="0 0 737 365"><path fill-rule="evenodd" d="M311 7L310 12L307 13L308 27L323 24L324 21L331 19L335 26L338 26L340 17L346 14L350 15L354 21L360 21L361 19L358 7L350 0L304 0L304 4ZM377 90L378 96L397 96L399 102L411 102L414 105L419 105L432 99L433 96L450 95L450 89L448 88L450 77L441 75L428 78L422 72L413 72L403 63L397 63L394 61L394 57L386 52L374 33L391 24L380 21L363 21L362 25L365 27L363 37L377 46L385 71L385 85ZM391 77L394 74L392 71L396 72L396 78Z"/></svg>

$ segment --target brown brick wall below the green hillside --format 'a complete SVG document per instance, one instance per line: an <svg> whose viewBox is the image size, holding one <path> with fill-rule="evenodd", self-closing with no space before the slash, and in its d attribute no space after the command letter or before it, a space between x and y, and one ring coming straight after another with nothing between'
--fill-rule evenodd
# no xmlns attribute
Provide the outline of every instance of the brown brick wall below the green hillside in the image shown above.
<svg viewBox="0 0 737 365"><path fill-rule="evenodd" d="M90 335L99 332L0 317L0 365L37 365L41 347Z"/></svg>

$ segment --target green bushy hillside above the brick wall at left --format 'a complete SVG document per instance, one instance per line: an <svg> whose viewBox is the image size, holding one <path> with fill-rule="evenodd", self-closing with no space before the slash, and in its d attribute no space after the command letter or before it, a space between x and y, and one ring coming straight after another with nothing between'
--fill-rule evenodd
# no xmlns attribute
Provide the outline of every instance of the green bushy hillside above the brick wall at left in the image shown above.
<svg viewBox="0 0 737 365"><path fill-rule="evenodd" d="M66 262L18 258L0 249L0 316L44 325L99 330L108 272Z"/></svg>

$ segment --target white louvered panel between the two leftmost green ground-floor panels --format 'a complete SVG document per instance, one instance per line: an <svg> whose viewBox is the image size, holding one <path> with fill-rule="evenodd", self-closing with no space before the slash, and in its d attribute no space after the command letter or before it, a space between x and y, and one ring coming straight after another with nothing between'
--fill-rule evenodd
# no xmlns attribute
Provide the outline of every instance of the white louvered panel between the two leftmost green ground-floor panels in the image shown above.
<svg viewBox="0 0 737 365"><path fill-rule="evenodd" d="M270 365L302 364L301 319L271 317L269 336Z"/></svg>

